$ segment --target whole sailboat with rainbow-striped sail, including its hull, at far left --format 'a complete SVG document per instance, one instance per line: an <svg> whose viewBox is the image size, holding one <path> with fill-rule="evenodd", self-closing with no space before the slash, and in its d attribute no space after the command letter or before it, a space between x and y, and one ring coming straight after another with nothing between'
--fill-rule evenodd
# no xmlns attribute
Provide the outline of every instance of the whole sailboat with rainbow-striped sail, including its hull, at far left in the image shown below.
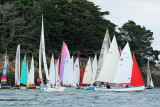
<svg viewBox="0 0 160 107"><path fill-rule="evenodd" d="M7 52L5 54L5 63L4 63L4 69L3 69L3 74L2 74L2 78L1 78L1 88L2 89L11 89L10 86L7 86L7 63L8 63L8 60L7 60Z"/></svg>

